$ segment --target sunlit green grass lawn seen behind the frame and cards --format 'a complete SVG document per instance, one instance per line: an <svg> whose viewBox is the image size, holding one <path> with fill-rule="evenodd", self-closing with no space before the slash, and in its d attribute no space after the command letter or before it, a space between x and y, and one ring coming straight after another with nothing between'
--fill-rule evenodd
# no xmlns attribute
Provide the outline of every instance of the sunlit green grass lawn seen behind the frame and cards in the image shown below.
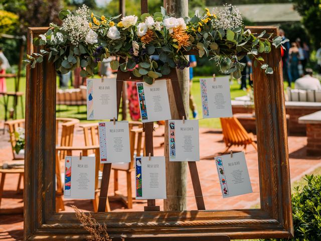
<svg viewBox="0 0 321 241"><path fill-rule="evenodd" d="M99 78L98 75L94 76L95 78ZM199 79L202 77L210 77L210 76L196 76L193 79L193 86L192 86L192 94L194 96L194 100L197 105L198 110L198 118L202 118L202 105L201 105L201 91L200 91L200 81ZM285 83L285 87L287 84ZM246 91L239 89L240 85L237 83L237 81L234 79L233 84L231 85L231 98L234 99L235 97L246 95ZM14 91L14 79L9 78L7 79L7 89L8 91ZM26 78L22 77L20 80L20 91L26 90ZM25 103L25 100L24 100ZM11 99L9 103L9 109L13 107L13 99ZM17 106L17 114L18 118L22 118L21 113L21 106L20 103L18 103ZM121 110L121 109L120 109ZM9 113L8 113L9 116ZM86 106L66 106L61 105L57 106L57 116L59 117L72 117L72 118L78 118L82 123L89 122L86 119ZM192 115L192 112L190 111L190 116ZM3 106L3 97L0 96L0 119L4 119L4 106ZM207 127L207 128L220 128L220 120L219 118L208 118L208 119L200 119L200 127Z"/></svg>

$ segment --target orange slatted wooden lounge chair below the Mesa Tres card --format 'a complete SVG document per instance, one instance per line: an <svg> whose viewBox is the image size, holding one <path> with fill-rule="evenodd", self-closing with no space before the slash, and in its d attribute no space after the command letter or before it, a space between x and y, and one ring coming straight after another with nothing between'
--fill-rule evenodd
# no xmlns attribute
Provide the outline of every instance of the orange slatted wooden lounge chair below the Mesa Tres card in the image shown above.
<svg viewBox="0 0 321 241"><path fill-rule="evenodd" d="M223 153L226 153L232 146L244 146L246 150L247 145L252 145L257 150L253 134L247 133L236 117L220 118L220 121L226 145Z"/></svg>

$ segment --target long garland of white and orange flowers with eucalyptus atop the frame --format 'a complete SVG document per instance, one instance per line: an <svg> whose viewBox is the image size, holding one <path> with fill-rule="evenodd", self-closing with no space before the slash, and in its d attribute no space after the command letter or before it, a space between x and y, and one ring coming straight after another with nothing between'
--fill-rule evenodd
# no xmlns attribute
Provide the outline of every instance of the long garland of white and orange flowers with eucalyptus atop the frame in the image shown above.
<svg viewBox="0 0 321 241"><path fill-rule="evenodd" d="M90 13L83 5L75 13L59 13L62 26L50 25L47 33L34 38L34 44L44 46L41 53L28 55L26 62L35 67L48 55L61 73L81 67L81 76L93 75L98 61L113 56L111 68L132 71L147 83L171 72L171 68L189 67L186 54L197 50L199 56L212 56L221 66L229 63L227 73L239 78L244 64L239 60L245 55L254 58L254 65L261 65L265 73L273 73L259 53L269 53L271 44L280 47L281 37L271 40L265 31L254 36L242 25L239 11L224 5L210 12L205 9L192 18L168 16L161 12L137 16L107 18ZM119 57L119 58L118 58Z"/></svg>

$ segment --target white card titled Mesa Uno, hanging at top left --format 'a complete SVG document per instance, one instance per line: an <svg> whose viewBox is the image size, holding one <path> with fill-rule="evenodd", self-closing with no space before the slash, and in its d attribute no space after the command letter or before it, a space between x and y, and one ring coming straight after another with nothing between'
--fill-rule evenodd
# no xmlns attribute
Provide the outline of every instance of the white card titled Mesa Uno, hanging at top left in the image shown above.
<svg viewBox="0 0 321 241"><path fill-rule="evenodd" d="M116 79L87 79L87 119L117 119Z"/></svg>

